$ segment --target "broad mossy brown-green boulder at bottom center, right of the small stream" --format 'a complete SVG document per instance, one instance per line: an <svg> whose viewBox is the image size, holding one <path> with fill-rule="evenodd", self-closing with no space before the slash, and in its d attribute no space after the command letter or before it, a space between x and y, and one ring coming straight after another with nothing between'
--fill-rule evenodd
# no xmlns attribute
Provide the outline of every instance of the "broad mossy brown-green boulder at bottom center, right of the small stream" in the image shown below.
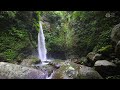
<svg viewBox="0 0 120 90"><path fill-rule="evenodd" d="M66 61L53 73L52 79L102 79L102 77L91 67Z"/></svg>

